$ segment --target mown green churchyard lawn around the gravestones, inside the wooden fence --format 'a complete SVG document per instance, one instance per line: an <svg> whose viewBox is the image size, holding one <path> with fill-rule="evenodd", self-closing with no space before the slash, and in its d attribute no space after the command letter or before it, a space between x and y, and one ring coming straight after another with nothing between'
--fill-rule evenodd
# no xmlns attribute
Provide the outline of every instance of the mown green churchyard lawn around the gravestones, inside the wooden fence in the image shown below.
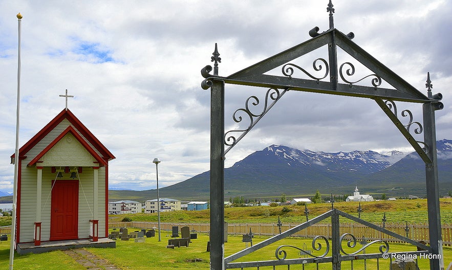
<svg viewBox="0 0 452 270"><path fill-rule="evenodd" d="M129 231L132 231L130 229ZM135 243L133 239L129 241L117 240L116 249L87 249L97 256L107 259L124 270L166 270L166 269L209 269L209 253L206 252L208 235L198 234L198 239L192 239L189 247L175 247L175 249L166 249L170 232L162 232L161 242L158 237L146 238L145 243ZM267 238L255 237L254 243L261 242ZM251 253L239 261L255 261L255 260L275 260L275 250L279 245L293 245L300 248L306 247L312 250L312 240L286 238L278 241L264 249ZM314 255L320 255L325 251L325 242L318 241L322 244L323 249L313 251ZM7 269L9 264L9 241L0 242L0 269ZM346 243L342 244L346 246ZM398 251L415 251L416 248L407 244L390 243L390 252ZM361 247L357 244L357 247ZM367 253L377 253L379 244L374 244L367 249ZM242 236L228 236L228 242L225 243L225 257L239 252L245 248L242 242ZM348 249L350 250L350 249ZM353 249L356 251L357 249ZM300 258L298 250L288 248L287 258ZM346 249L347 251L347 249ZM447 266L452 261L452 248L444 247L444 263ZM355 261L353 267L355 269L363 269L363 261ZM376 260L367 260L368 269L376 269ZM389 268L389 260L380 259L380 269ZM419 267L421 270L429 269L428 260L419 259ZM345 269L350 269L350 262L342 262ZM292 265L291 269L302 269L302 265ZM305 269L315 269L316 265L305 265ZM68 255L61 251L53 251L43 254L15 255L14 269L85 269L74 261ZM260 269L273 269L273 267L260 267ZM277 266L276 269L287 269L287 266ZM331 263L320 264L319 269L331 269Z"/></svg>

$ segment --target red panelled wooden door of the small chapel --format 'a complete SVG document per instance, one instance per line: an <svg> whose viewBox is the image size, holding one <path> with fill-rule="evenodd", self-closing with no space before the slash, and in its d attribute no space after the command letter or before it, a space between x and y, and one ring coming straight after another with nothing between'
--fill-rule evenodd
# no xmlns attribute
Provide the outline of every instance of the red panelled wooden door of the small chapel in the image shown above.
<svg viewBox="0 0 452 270"><path fill-rule="evenodd" d="M78 180L52 185L50 240L78 239Z"/></svg>

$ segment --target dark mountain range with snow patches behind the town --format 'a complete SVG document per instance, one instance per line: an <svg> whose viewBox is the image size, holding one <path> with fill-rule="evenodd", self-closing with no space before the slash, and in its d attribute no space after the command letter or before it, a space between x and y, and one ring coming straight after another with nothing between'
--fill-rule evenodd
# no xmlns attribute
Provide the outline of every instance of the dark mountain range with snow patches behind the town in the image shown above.
<svg viewBox="0 0 452 270"><path fill-rule="evenodd" d="M440 140L438 171L440 194L452 189L452 141ZM235 196L268 198L323 194L351 194L358 185L363 194L425 196L425 165L417 153L393 151L314 152L271 145L225 169L225 199ZM161 197L207 200L209 172L160 189ZM156 190L110 191L110 200L147 200Z"/></svg>

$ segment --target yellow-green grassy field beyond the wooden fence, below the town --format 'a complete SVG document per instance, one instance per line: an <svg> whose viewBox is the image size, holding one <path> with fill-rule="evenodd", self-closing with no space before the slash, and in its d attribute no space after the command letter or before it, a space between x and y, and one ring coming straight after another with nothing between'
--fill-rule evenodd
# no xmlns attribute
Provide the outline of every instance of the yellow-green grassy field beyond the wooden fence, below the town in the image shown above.
<svg viewBox="0 0 452 270"><path fill-rule="evenodd" d="M337 202L334 207L353 216L358 216L358 202ZM381 223L386 213L387 222L425 223L427 217L427 200L396 200L361 202L361 218L373 223ZM452 224L452 199L440 199L441 223ZM309 204L309 219L331 210L331 204ZM225 208L225 221L229 223L272 223L278 216L283 222L305 222L304 206L256 206ZM110 221L119 222L128 217L133 221L157 222L157 214L123 214L112 215ZM209 210L161 212L162 222L209 222ZM349 221L346 221L349 222Z"/></svg>

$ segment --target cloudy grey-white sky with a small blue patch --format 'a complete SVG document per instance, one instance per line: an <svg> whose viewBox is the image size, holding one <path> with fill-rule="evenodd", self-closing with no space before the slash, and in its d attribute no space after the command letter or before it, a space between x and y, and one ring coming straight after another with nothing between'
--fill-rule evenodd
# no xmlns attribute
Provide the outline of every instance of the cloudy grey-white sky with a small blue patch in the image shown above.
<svg viewBox="0 0 452 270"><path fill-rule="evenodd" d="M200 70L218 43L220 76L291 48L317 26L329 29L322 1L0 1L0 190L12 191L17 95L17 18L22 19L20 138L25 144L63 108L116 156L112 188L146 190L209 169L210 92ZM442 93L437 139L452 139L452 5L446 0L333 1L334 27L426 94ZM327 50L299 65L328 59ZM339 61L349 61L338 52ZM356 65L357 74L370 74ZM358 72L359 70L359 72ZM267 89L226 85L232 113ZM401 103L422 122L420 104ZM422 137L417 137L422 140ZM412 151L370 99L288 92L226 156L226 167L271 144L337 152Z"/></svg>

